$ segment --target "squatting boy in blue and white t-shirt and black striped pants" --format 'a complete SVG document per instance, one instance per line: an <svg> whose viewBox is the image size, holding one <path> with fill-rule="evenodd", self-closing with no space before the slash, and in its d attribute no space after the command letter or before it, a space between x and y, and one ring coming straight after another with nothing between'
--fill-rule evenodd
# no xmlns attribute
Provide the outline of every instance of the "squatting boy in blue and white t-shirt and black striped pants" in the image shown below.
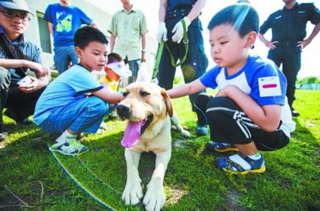
<svg viewBox="0 0 320 211"><path fill-rule="evenodd" d="M289 142L295 128L285 98L286 79L268 59L249 55L259 29L258 14L248 4L234 4L215 14L209 25L211 57L217 66L199 79L168 91L171 98L218 88L212 97L195 100L198 124L210 127L217 151L236 151L218 157L213 165L235 173L262 173L264 160L258 150L277 150Z"/></svg>

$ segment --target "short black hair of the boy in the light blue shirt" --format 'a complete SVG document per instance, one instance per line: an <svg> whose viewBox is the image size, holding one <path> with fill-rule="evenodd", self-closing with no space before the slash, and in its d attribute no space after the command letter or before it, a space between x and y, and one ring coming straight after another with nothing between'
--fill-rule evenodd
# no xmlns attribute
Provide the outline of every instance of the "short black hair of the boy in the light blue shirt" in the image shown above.
<svg viewBox="0 0 320 211"><path fill-rule="evenodd" d="M74 33L74 46L84 49L89 42L97 41L108 44L105 35L98 29L92 26L83 26L78 28Z"/></svg>

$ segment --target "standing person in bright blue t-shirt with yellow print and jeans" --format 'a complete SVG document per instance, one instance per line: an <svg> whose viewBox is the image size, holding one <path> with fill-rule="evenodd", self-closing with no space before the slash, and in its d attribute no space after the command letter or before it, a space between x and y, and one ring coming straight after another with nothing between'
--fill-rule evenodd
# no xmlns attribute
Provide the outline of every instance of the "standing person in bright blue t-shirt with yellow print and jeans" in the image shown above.
<svg viewBox="0 0 320 211"><path fill-rule="evenodd" d="M59 3L49 4L43 19L48 22L49 32L53 36L54 63L61 74L72 62L78 62L74 52L73 36L82 24L98 28L97 24L81 9L71 6L70 0L60 0Z"/></svg>

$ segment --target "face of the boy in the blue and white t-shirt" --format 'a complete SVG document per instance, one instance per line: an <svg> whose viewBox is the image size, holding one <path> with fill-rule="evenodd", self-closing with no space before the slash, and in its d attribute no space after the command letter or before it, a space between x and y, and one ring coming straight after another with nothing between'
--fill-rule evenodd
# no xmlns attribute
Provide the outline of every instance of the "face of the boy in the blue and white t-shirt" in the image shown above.
<svg viewBox="0 0 320 211"><path fill-rule="evenodd" d="M235 65L247 56L248 48L251 45L250 42L248 43L248 34L241 38L230 24L218 25L212 28L209 42L211 45L211 57L219 67Z"/></svg>

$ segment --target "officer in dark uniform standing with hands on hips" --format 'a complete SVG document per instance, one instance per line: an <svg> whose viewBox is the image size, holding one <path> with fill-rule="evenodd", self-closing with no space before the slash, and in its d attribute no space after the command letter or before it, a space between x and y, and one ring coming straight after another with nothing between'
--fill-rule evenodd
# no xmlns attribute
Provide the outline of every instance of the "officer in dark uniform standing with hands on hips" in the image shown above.
<svg viewBox="0 0 320 211"><path fill-rule="evenodd" d="M282 71L287 79L286 96L292 111L292 116L298 116L294 111L294 90L296 75L301 66L301 50L307 46L320 30L320 11L313 3L297 3L296 0L282 0L284 7L272 13L261 25L259 39L269 48L268 58L277 66L282 63ZM307 39L306 23L310 20L315 24ZM271 28L271 41L263 34Z"/></svg>

